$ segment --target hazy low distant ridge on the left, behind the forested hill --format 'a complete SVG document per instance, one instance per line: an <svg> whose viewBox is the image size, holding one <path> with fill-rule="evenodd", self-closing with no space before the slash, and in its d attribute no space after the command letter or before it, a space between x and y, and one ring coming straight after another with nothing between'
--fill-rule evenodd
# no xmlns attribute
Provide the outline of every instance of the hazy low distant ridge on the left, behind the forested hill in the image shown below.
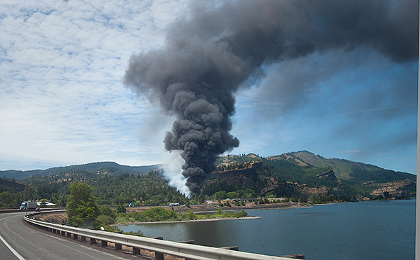
<svg viewBox="0 0 420 260"><path fill-rule="evenodd" d="M49 176L57 175L62 172L73 172L76 170L85 170L87 172L109 172L111 175L120 175L123 173L132 173L144 175L146 172L157 169L161 165L147 165L147 166L127 166L119 165L114 162L99 162L99 163L87 163L83 165L71 165L63 167L52 167L47 170L4 170L0 171L0 177L6 177L8 179L25 179L34 175Z"/></svg>

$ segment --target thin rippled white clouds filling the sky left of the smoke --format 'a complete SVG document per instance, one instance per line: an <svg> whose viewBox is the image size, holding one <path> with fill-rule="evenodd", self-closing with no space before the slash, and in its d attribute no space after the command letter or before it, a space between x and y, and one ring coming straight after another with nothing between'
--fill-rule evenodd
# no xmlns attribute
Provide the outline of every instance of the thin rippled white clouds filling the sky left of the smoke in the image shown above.
<svg viewBox="0 0 420 260"><path fill-rule="evenodd" d="M162 46L188 5L1 1L0 169L160 163L159 112L121 79L130 55ZM140 135L148 128L161 135Z"/></svg>

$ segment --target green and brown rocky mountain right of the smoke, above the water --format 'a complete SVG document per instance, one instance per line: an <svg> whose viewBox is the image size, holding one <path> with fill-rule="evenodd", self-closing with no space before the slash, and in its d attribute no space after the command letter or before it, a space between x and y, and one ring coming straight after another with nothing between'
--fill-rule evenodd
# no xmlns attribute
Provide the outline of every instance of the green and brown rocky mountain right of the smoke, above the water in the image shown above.
<svg viewBox="0 0 420 260"><path fill-rule="evenodd" d="M347 196L346 199L416 196L416 175L351 160L323 158L309 151L262 158L255 153L218 158L205 194L253 189L257 195ZM341 197L340 197L341 198Z"/></svg>

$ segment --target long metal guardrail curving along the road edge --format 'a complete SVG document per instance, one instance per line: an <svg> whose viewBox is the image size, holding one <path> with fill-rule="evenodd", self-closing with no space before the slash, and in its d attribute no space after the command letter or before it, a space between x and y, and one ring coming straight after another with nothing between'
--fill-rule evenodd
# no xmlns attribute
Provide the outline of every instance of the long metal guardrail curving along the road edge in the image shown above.
<svg viewBox="0 0 420 260"><path fill-rule="evenodd" d="M92 244L96 243L96 240L101 240L101 245L103 247L106 247L108 242L113 242L116 244L116 249L121 249L121 245L132 247L133 253L139 252L139 249L146 249L151 252L155 252L156 259L163 259L163 254L196 260L290 260L290 258L294 258L293 256L267 256L263 254L239 252L218 247L206 247L202 245L192 245L181 242L159 240L155 238L143 238L135 235L124 235L107 231L94 231L86 228L76 228L72 226L52 224L44 221L38 221L36 219L31 219L31 214L25 216L24 219L34 226L47 229L48 231L52 231L52 233L61 233L61 235L67 235L69 238L71 238L71 235L73 235L73 239L78 239L78 236L80 236L82 241L85 241L86 238L90 238L90 242Z"/></svg>

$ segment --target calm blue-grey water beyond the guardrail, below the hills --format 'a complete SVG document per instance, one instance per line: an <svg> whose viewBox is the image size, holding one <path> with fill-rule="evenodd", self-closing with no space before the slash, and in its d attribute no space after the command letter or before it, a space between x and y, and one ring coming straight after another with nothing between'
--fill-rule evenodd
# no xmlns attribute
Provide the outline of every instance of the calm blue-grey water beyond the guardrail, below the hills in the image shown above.
<svg viewBox="0 0 420 260"><path fill-rule="evenodd" d="M248 210L260 219L121 226L165 240L239 246L243 252L306 259L414 259L416 200Z"/></svg>

